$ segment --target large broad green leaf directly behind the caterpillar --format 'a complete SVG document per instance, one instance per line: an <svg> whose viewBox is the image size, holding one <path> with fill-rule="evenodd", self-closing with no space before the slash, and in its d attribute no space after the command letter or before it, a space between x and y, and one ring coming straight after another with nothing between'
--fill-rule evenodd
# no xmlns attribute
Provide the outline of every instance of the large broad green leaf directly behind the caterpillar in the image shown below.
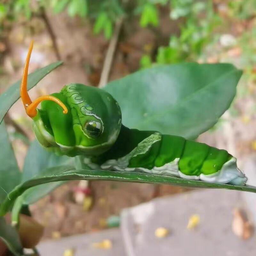
<svg viewBox="0 0 256 256"><path fill-rule="evenodd" d="M231 64L181 63L135 72L104 89L119 103L125 126L191 139L230 106L241 74Z"/></svg>

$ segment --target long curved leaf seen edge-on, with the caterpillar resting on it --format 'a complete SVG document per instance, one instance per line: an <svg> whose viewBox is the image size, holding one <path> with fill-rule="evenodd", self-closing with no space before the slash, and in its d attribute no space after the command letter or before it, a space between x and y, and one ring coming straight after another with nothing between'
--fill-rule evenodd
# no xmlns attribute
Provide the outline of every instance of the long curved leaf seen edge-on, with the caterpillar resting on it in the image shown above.
<svg viewBox="0 0 256 256"><path fill-rule="evenodd" d="M44 174L37 175L31 180L18 185L9 193L0 206L0 215L4 215L11 207L13 202L27 189L55 181L64 180L116 180L125 182L158 183L175 186L186 186L193 188L226 188L256 193L256 187L253 186L235 186L229 184L215 184L200 180L186 180L171 176L140 172L113 172L98 170L73 170L72 166L60 166L48 169Z"/></svg>

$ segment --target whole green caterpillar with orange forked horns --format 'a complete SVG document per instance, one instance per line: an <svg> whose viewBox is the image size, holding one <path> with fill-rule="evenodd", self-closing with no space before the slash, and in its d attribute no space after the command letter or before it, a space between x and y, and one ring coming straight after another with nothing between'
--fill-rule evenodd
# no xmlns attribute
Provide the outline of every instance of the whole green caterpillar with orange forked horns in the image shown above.
<svg viewBox="0 0 256 256"><path fill-rule="evenodd" d="M179 136L125 127L118 102L102 89L67 84L60 92L32 102L27 92L32 48L33 42L25 62L20 96L43 147L60 155L84 156L91 169L246 184L247 178L237 168L236 158L226 150Z"/></svg>

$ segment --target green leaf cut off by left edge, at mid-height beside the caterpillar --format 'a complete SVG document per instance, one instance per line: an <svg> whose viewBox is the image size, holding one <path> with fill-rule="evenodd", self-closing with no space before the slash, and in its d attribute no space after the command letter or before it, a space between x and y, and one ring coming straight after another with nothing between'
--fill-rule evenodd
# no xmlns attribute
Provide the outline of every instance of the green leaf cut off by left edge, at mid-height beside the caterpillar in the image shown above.
<svg viewBox="0 0 256 256"><path fill-rule="evenodd" d="M20 183L21 173L14 156L4 122L0 124L0 204L15 186Z"/></svg>

